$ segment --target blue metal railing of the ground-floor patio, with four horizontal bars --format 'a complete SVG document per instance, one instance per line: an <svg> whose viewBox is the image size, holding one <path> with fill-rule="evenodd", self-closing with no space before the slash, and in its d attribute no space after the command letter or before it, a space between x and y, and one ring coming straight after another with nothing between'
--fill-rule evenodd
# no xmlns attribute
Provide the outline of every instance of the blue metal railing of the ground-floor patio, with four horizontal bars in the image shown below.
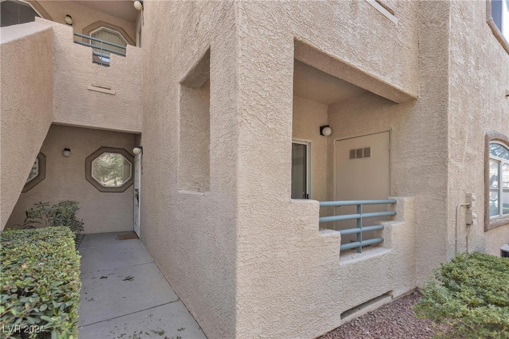
<svg viewBox="0 0 509 339"><path fill-rule="evenodd" d="M396 211L383 211L383 212L371 212L362 213L362 205L381 205L381 204L395 204L395 199L385 200L343 200L343 201L320 201L320 207L340 207L340 206L357 206L357 213L345 214L345 215L332 215L330 217L320 217L320 223L328 223L333 221L344 221L344 220L357 220L356 228L348 228L340 230L340 234L357 234L357 241L345 243L340 245L340 250L349 250L357 248L358 253L362 253L362 246L371 245L374 243L383 242L383 238L373 238L362 240L362 233L367 231L383 230L383 225L365 226L362 227L362 219L376 218L376 217L389 217L395 215Z"/></svg>

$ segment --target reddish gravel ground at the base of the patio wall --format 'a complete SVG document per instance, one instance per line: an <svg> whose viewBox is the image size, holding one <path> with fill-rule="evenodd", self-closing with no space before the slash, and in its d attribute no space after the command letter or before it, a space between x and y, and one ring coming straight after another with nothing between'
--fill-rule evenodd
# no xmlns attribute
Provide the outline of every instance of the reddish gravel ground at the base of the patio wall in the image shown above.
<svg viewBox="0 0 509 339"><path fill-rule="evenodd" d="M322 335L319 339L431 338L436 333L432 322L416 319L412 311L412 306L419 301L420 297L420 292L412 292ZM442 331L446 329L445 326L440 328Z"/></svg>

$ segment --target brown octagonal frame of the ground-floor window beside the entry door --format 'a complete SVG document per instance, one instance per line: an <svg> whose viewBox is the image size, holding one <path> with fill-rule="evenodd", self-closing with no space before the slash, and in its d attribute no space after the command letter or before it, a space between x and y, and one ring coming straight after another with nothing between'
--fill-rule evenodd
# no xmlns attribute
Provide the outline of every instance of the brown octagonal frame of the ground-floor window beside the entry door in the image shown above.
<svg viewBox="0 0 509 339"><path fill-rule="evenodd" d="M121 186L103 186L92 176L92 163L104 153L117 153L124 157L131 164L131 176ZM122 193L125 192L134 182L134 156L125 148L117 147L99 147L90 156L85 159L85 178L99 192L104 193Z"/></svg>

